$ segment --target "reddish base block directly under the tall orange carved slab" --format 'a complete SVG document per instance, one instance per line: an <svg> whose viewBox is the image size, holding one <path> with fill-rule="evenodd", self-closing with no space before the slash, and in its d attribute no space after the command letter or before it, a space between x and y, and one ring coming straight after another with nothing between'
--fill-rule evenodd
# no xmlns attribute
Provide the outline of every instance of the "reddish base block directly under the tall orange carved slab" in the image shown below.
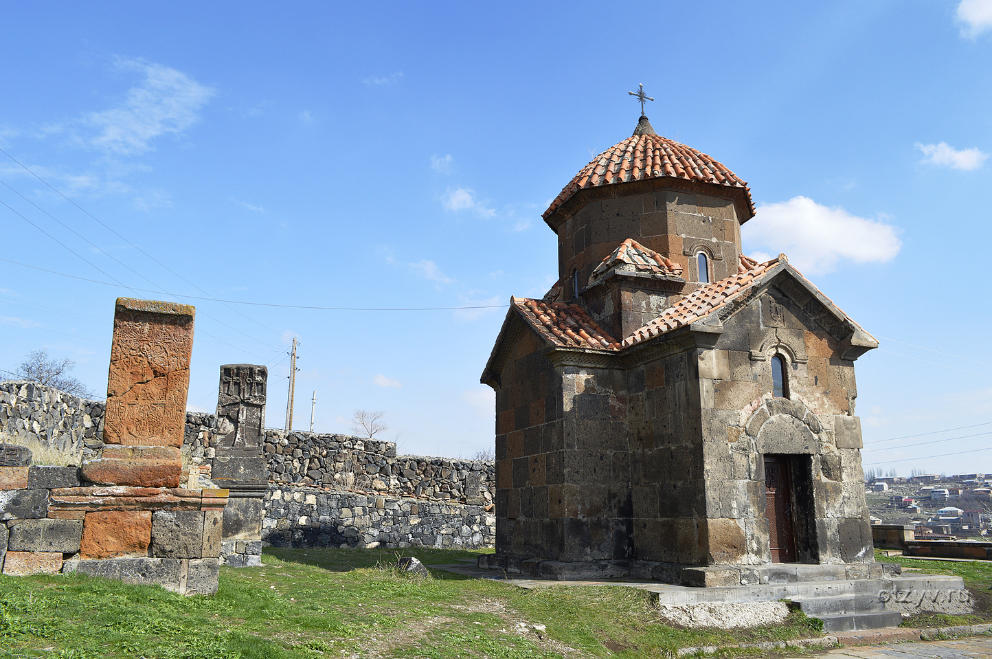
<svg viewBox="0 0 992 659"><path fill-rule="evenodd" d="M183 459L176 447L125 447L108 444L100 457L82 462L84 480L101 485L179 487Z"/></svg>

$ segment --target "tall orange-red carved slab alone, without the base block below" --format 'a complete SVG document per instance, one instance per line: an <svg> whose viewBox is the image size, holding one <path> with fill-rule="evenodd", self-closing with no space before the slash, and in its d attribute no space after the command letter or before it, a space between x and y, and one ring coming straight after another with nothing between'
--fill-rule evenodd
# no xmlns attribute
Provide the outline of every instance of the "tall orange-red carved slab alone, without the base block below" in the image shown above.
<svg viewBox="0 0 992 659"><path fill-rule="evenodd" d="M117 299L104 442L183 446L194 315L188 305Z"/></svg>

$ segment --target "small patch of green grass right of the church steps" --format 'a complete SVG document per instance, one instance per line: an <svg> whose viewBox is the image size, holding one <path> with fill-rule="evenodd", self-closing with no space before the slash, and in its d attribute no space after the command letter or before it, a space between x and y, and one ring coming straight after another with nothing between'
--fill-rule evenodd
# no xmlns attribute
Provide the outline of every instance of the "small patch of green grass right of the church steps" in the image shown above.
<svg viewBox="0 0 992 659"><path fill-rule="evenodd" d="M886 556L875 551L880 563L898 563L903 574L922 572L929 575L953 575L964 580L964 588L971 592L975 611L971 615L923 613L903 621L904 627L948 627L961 624L980 624L992 621L992 563L980 561L929 561L904 556Z"/></svg>

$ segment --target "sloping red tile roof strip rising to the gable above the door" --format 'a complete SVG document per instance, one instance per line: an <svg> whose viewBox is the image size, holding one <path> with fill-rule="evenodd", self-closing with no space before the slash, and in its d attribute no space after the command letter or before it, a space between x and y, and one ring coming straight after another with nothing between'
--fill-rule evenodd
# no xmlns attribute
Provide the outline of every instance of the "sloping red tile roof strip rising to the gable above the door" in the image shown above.
<svg viewBox="0 0 992 659"><path fill-rule="evenodd" d="M778 258L765 263L758 263L743 254L741 254L740 261L736 275L697 288L662 312L661 316L624 338L623 347L635 345L709 316L749 290L762 279L763 275L779 265Z"/></svg>

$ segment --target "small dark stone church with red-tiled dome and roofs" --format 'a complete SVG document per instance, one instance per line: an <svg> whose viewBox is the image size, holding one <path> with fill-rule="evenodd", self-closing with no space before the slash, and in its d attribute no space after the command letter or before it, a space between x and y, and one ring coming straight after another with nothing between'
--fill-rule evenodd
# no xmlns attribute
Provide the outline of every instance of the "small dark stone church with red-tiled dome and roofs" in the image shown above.
<svg viewBox="0 0 992 659"><path fill-rule="evenodd" d="M482 374L498 489L480 565L694 585L881 568L854 416L878 341L784 254L741 253L754 213L744 181L643 114L555 198L558 283L511 299Z"/></svg>

